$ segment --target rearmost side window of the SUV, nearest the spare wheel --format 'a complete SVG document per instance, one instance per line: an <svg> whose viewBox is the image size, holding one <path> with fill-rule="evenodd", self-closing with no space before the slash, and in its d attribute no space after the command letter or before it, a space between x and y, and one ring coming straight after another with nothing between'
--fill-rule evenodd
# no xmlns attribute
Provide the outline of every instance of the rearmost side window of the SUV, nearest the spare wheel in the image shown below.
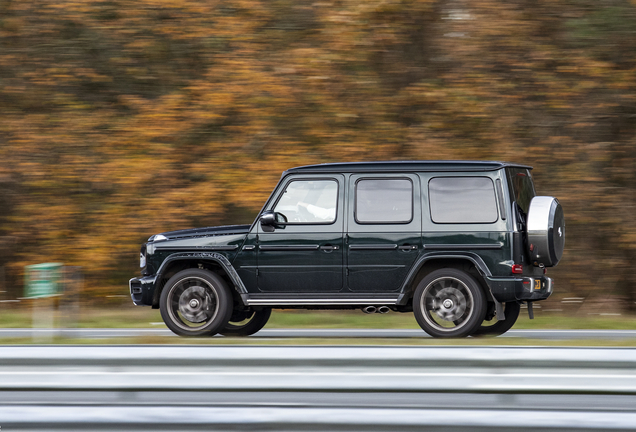
<svg viewBox="0 0 636 432"><path fill-rule="evenodd" d="M497 221L495 185L489 177L436 177L428 183L435 223Z"/></svg>

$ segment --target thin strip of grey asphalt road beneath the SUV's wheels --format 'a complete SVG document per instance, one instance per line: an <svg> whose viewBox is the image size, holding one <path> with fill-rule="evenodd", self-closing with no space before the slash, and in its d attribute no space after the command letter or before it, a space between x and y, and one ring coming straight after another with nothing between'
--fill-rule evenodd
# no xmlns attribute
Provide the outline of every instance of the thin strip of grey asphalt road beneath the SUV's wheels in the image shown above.
<svg viewBox="0 0 636 432"><path fill-rule="evenodd" d="M71 338L120 338L136 336L174 336L165 326L150 329L0 329L2 338L28 338L33 335L47 337L52 335ZM221 337L221 336L218 336ZM285 338L349 338L349 339L411 339L430 337L418 329L263 329L251 338L285 339ZM538 340L627 340L636 339L636 330L510 330L499 338L525 338Z"/></svg>

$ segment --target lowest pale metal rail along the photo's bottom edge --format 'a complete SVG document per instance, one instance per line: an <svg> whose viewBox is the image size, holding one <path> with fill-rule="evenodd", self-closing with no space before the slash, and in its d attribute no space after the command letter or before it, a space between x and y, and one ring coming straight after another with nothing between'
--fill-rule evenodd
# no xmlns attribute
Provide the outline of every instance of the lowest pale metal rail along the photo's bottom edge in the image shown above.
<svg viewBox="0 0 636 432"><path fill-rule="evenodd" d="M78 412L79 411L79 412ZM25 430L311 430L311 431L633 431L636 414L507 410L324 408L28 407L0 410L3 429ZM35 420L35 422L33 422ZM44 427L42 427L44 426Z"/></svg>

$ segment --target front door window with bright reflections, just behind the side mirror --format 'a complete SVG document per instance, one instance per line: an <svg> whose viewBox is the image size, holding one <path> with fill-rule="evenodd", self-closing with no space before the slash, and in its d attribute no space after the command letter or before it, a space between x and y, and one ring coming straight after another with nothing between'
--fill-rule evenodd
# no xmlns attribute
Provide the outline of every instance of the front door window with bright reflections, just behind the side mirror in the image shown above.
<svg viewBox="0 0 636 432"><path fill-rule="evenodd" d="M334 180L295 180L290 182L274 211L290 224L333 223L336 220L338 183Z"/></svg>

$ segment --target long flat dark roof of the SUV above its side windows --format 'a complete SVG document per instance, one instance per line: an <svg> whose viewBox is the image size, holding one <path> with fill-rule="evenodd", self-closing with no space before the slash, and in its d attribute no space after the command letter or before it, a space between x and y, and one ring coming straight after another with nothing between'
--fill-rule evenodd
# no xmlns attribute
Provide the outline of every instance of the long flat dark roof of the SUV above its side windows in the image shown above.
<svg viewBox="0 0 636 432"><path fill-rule="evenodd" d="M496 161L380 161L339 162L306 165L290 168L283 174L292 173L341 173L341 172L403 172L403 171L496 171L501 168L532 169L528 165Z"/></svg>

